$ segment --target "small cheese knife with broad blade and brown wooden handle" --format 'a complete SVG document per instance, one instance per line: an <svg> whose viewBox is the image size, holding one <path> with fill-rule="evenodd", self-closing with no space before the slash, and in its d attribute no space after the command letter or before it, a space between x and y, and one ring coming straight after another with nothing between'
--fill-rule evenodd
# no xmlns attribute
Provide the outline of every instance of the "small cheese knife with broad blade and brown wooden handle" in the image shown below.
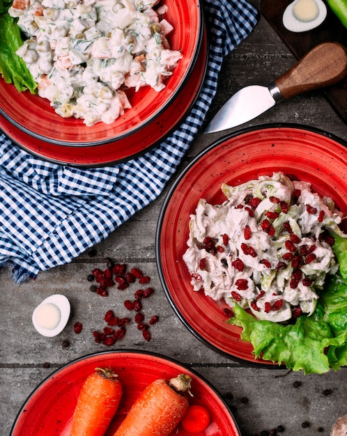
<svg viewBox="0 0 347 436"><path fill-rule="evenodd" d="M247 123L281 100L330 86L346 75L346 48L338 42L323 42L269 86L251 85L240 89L219 109L203 133L219 132Z"/></svg>

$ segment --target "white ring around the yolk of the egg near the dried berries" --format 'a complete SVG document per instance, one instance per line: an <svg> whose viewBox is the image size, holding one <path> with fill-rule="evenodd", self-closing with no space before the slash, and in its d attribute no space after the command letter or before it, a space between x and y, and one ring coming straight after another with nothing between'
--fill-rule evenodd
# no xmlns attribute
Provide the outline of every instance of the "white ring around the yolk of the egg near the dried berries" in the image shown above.
<svg viewBox="0 0 347 436"><path fill-rule="evenodd" d="M49 303L54 304L60 311L60 320L58 325L54 329L45 329L44 327L38 325L38 323L36 322L36 314L38 310L43 305ZM43 336L52 338L53 336L56 336L57 334L63 331L70 318L70 312L71 312L70 302L65 297L65 295L61 295L61 294L50 295L50 297L45 298L43 302L41 302L33 311L33 316L32 316L33 327L35 327L37 332L42 334Z"/></svg>

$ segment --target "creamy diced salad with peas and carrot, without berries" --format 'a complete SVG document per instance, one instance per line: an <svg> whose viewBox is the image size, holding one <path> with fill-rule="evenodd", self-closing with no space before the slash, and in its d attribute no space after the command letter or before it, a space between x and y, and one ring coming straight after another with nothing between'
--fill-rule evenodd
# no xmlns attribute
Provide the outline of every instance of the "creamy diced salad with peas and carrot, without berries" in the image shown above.
<svg viewBox="0 0 347 436"><path fill-rule="evenodd" d="M14 0L8 13L28 38L17 50L57 114L112 123L131 104L124 90L164 87L182 53L157 0Z"/></svg>

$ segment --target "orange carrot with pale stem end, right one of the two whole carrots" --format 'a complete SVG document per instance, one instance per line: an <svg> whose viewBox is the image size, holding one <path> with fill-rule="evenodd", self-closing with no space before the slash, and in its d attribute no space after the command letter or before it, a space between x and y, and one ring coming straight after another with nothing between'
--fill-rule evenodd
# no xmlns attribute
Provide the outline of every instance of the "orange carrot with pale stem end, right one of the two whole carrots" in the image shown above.
<svg viewBox="0 0 347 436"><path fill-rule="evenodd" d="M188 407L190 375L155 380L132 405L114 436L167 436Z"/></svg>

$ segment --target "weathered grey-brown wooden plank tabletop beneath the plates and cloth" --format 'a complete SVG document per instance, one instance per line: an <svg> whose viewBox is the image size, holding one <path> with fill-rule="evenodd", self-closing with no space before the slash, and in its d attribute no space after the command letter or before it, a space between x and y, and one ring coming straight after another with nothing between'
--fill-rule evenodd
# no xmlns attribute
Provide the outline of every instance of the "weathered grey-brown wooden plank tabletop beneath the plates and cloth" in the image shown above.
<svg viewBox="0 0 347 436"><path fill-rule="evenodd" d="M251 3L260 8L259 0ZM219 91L206 121L242 86L267 85L294 63L295 58L284 42L261 17L252 34L225 59ZM298 123L347 139L346 123L321 91L279 104L247 125L263 123ZM238 127L230 132L236 130ZM181 168L226 133L199 133ZM170 185L171 182L156 201L98 244L95 256L86 252L72 263L41 272L35 281L20 285L13 282L7 267L0 270L1 436L10 434L20 407L45 377L69 361L107 349L93 341L92 332L101 328L110 307L123 310L126 294L118 297L112 291L111 296L102 298L90 292L91 283L86 277L94 267L104 268L105 258L140 267L151 277L155 293L145 302L144 309L160 316L160 322L151 330L151 341L144 341L132 325L113 348L159 352L203 375L229 405L242 436L261 435L262 431L266 434L264 430L270 432L277 426L284 427L281 434L286 436L329 435L334 421L347 413L347 368L337 373L304 375L285 369L244 366L210 350L183 326L164 295L155 261L157 219ZM52 293L63 293L70 299L72 315L59 336L45 338L33 328L31 313ZM81 334L73 331L76 321L84 325Z"/></svg>

